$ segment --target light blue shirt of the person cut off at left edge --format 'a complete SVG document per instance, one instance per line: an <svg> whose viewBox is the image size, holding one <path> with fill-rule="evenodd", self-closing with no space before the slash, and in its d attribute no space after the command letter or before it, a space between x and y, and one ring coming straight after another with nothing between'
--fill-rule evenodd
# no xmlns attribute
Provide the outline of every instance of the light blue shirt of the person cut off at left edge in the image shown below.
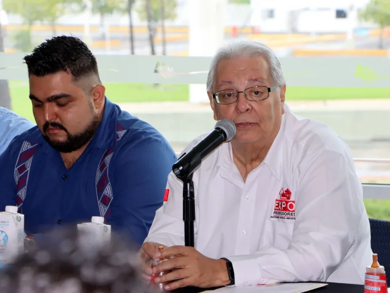
<svg viewBox="0 0 390 293"><path fill-rule="evenodd" d="M0 107L0 154L3 153L12 139L35 124L8 110Z"/></svg>

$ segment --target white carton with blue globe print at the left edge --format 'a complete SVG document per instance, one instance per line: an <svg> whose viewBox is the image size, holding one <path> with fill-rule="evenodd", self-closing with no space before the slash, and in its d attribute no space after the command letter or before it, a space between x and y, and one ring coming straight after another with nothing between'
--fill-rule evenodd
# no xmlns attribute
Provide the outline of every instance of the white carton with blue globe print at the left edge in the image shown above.
<svg viewBox="0 0 390 293"><path fill-rule="evenodd" d="M0 263L12 262L24 251L24 215L18 207L7 206L0 212Z"/></svg>

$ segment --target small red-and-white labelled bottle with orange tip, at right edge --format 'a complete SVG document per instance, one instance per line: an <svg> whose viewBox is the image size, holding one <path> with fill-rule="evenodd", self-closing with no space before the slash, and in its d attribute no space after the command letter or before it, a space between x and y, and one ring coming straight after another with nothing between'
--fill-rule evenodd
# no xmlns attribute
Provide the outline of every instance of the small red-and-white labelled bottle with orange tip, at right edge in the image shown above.
<svg viewBox="0 0 390 293"><path fill-rule="evenodd" d="M379 265L378 254L372 255L372 265L366 268L364 293L387 293L387 280L384 267Z"/></svg>

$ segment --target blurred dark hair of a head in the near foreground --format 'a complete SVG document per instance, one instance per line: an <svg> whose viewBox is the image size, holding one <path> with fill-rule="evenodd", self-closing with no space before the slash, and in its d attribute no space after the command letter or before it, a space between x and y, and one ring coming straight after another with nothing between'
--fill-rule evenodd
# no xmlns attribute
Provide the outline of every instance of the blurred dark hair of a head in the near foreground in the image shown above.
<svg viewBox="0 0 390 293"><path fill-rule="evenodd" d="M151 293L134 244L116 234L104 247L83 239L75 229L46 233L44 245L0 270L0 292Z"/></svg>

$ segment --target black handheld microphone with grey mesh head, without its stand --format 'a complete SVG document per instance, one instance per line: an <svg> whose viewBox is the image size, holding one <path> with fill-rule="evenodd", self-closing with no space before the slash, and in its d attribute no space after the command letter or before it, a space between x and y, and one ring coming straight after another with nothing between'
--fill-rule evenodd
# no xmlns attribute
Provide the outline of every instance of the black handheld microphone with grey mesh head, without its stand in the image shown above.
<svg viewBox="0 0 390 293"><path fill-rule="evenodd" d="M186 178L202 163L202 160L236 135L233 121L223 119L215 124L214 130L197 143L188 153L184 153L172 166L172 171L179 179Z"/></svg>

